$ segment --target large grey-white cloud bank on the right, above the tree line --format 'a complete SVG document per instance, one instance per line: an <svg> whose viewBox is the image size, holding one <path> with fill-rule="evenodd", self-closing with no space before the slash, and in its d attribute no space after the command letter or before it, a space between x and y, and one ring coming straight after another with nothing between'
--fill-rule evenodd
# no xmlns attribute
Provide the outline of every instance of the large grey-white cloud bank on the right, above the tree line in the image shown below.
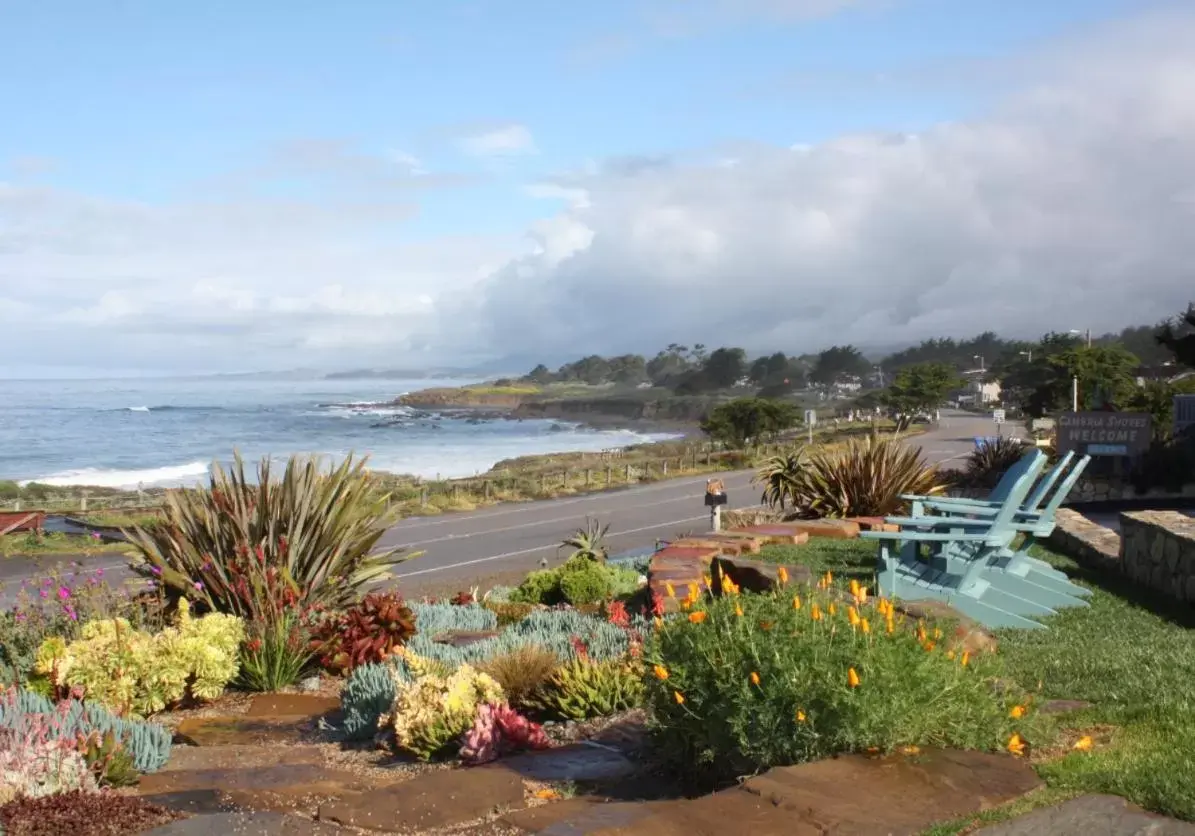
<svg viewBox="0 0 1195 836"><path fill-rule="evenodd" d="M545 358L1156 321L1195 296L1191 42L1142 16L1024 56L974 121L557 178L587 199L454 321Z"/></svg>

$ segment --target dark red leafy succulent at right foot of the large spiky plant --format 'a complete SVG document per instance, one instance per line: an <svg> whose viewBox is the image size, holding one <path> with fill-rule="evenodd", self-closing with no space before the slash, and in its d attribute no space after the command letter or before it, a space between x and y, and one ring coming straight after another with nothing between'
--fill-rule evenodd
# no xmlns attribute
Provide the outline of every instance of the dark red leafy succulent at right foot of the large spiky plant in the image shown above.
<svg viewBox="0 0 1195 836"><path fill-rule="evenodd" d="M367 662L381 662L415 635L415 614L397 592L373 592L338 616L326 617L312 645L319 664L347 674Z"/></svg>

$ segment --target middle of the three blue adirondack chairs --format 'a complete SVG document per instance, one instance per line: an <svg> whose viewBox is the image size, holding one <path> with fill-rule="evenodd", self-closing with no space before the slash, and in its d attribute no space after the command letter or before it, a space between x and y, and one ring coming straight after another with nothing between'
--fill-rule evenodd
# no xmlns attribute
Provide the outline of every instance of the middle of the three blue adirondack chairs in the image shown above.
<svg viewBox="0 0 1195 836"><path fill-rule="evenodd" d="M980 557L985 560L980 574L992 586L1016 595L1031 604L1061 609L1066 607L1086 607L1084 600L1091 591L1084 586L1071 583L1065 573L1059 572L1044 561L1029 555L1029 548L1041 537L1049 536L1054 530L1055 514L1066 497L1074 487L1083 471L1086 469L1090 456L1080 459L1071 472L1058 482L1058 487L1049 502L1036 512L1022 511L1015 515L1010 523L1012 529L1025 535L1019 548L1001 549L994 554L976 555L975 549L969 543L948 543L937 552L930 564L944 571L958 571L960 566L966 566L973 559ZM1053 468L1058 471L1058 466ZM1028 500L1027 500L1028 505ZM974 508L967 510L968 514L976 514ZM969 517L939 517L939 525L950 525L962 530L983 530L988 527L983 515L994 514L991 509L985 509L976 516ZM890 522L905 525L924 525L925 518L920 517L891 517ZM1029 611L1032 611L1030 608Z"/></svg>

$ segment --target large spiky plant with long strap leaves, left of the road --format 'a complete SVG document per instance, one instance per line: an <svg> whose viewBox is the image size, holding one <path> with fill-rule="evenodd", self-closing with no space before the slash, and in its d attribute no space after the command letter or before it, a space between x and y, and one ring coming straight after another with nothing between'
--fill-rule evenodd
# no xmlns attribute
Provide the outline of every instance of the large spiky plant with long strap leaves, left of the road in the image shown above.
<svg viewBox="0 0 1195 836"><path fill-rule="evenodd" d="M257 620L290 609L343 609L366 584L417 554L374 552L396 521L364 460L325 471L292 457L281 478L263 459L256 482L237 454L206 488L168 491L160 523L129 542L158 578L201 606Z"/></svg>

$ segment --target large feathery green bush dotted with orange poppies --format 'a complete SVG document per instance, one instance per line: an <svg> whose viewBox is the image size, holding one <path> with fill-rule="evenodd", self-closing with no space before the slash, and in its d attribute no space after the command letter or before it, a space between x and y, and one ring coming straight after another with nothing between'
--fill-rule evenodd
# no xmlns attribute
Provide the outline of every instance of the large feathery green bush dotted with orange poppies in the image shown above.
<svg viewBox="0 0 1195 836"><path fill-rule="evenodd" d="M666 761L704 782L871 748L1000 749L1027 731L989 657L938 648L883 600L841 597L731 595L657 628L646 682Z"/></svg>

